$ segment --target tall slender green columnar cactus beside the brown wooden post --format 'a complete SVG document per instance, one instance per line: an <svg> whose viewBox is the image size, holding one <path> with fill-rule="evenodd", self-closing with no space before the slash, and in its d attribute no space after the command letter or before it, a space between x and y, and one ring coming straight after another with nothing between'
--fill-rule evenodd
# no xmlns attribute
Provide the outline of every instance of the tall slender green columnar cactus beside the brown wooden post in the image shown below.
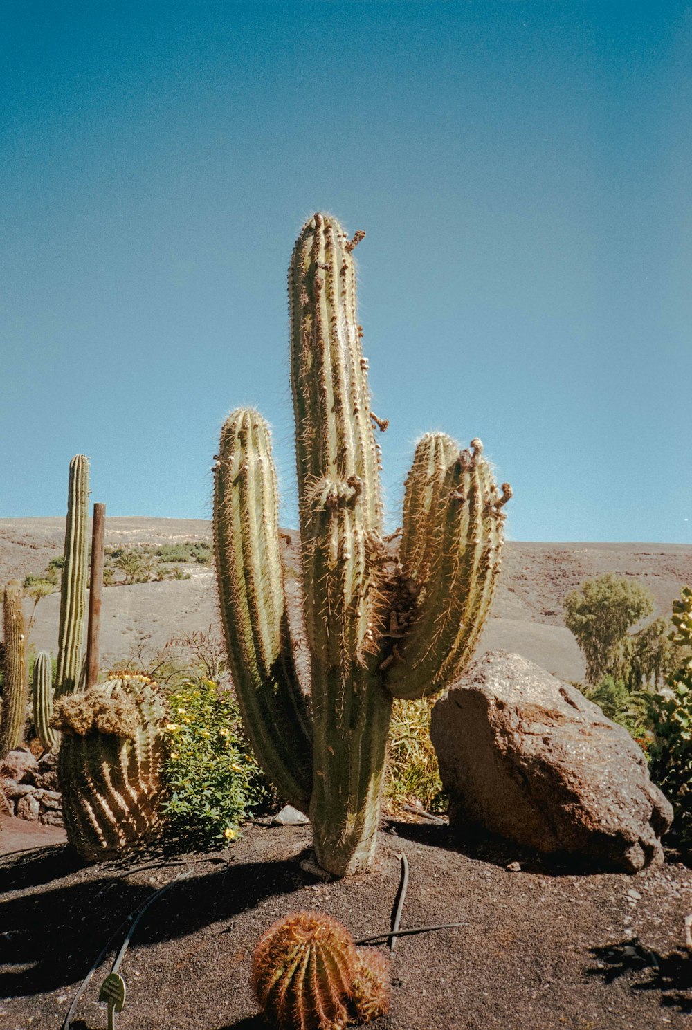
<svg viewBox="0 0 692 1030"><path fill-rule="evenodd" d="M89 571L89 458L75 454L70 461L65 528L65 563L60 591L56 697L79 686Z"/></svg>

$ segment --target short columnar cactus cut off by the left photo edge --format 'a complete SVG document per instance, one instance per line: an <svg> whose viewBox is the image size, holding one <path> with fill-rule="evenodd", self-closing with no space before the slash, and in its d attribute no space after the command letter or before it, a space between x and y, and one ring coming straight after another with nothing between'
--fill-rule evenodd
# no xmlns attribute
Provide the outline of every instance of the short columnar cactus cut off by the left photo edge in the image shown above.
<svg viewBox="0 0 692 1030"><path fill-rule="evenodd" d="M9 580L2 605L5 636L3 659L4 696L0 716L0 758L24 743L24 723L29 697L26 628L22 612L22 584Z"/></svg>

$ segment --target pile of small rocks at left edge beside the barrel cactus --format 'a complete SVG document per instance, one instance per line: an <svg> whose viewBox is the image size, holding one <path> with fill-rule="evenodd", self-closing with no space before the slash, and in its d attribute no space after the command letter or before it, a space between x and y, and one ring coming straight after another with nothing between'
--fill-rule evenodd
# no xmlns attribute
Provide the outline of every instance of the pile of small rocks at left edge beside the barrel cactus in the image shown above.
<svg viewBox="0 0 692 1030"><path fill-rule="evenodd" d="M49 752L37 760L27 748L10 751L0 766L0 819L15 816L62 826L57 762L57 755Z"/></svg>

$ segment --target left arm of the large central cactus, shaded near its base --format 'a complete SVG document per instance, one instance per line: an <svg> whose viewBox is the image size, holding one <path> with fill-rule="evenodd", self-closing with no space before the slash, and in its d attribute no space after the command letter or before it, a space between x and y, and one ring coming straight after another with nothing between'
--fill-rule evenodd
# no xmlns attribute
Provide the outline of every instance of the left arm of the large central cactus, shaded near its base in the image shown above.
<svg viewBox="0 0 692 1030"><path fill-rule="evenodd" d="M269 428L251 409L233 412L221 432L214 548L229 660L250 744L286 800L307 813L310 720L288 629L276 473Z"/></svg>

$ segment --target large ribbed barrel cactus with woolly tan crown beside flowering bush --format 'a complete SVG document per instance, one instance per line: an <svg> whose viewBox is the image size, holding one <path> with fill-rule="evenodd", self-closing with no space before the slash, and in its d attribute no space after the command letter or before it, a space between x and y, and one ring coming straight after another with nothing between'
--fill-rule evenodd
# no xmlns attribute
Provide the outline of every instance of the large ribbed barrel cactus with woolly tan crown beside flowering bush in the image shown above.
<svg viewBox="0 0 692 1030"><path fill-rule="evenodd" d="M63 818L82 858L98 860L160 829L165 720L163 694L144 676L107 680L56 702Z"/></svg>

